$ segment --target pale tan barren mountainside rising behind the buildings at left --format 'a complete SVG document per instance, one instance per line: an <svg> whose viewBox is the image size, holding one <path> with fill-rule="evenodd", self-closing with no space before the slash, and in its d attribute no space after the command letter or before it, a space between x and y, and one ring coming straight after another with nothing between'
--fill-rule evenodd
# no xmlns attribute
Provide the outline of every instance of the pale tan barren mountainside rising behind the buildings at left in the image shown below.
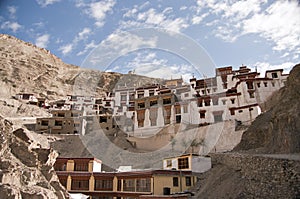
<svg viewBox="0 0 300 199"><path fill-rule="evenodd" d="M1 98L10 98L18 92L34 93L47 99L62 98L67 94L102 96L119 80L119 85L159 82L134 74L101 72L66 64L46 49L0 34Z"/></svg>

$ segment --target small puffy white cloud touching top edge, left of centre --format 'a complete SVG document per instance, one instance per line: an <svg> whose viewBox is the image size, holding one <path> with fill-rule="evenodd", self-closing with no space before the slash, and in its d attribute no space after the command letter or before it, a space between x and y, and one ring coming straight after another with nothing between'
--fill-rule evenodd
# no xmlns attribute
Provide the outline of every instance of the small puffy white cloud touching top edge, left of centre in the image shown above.
<svg viewBox="0 0 300 199"><path fill-rule="evenodd" d="M102 27L104 25L106 14L112 11L112 8L115 5L115 3L116 2L114 0L106 0L90 4L89 14L96 20L96 26Z"/></svg>

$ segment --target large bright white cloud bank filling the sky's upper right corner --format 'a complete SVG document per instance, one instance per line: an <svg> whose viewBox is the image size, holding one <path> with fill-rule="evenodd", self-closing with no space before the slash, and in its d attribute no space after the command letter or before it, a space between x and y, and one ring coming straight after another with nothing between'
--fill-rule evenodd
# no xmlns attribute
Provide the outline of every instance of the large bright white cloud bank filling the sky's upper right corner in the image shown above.
<svg viewBox="0 0 300 199"><path fill-rule="evenodd" d="M300 6L297 1L198 1L198 10L208 9L214 17L207 26L215 25L212 33L227 42L243 35L257 34L270 41L275 51L300 50ZM193 18L196 23L198 18ZM199 19L200 20L200 19Z"/></svg>

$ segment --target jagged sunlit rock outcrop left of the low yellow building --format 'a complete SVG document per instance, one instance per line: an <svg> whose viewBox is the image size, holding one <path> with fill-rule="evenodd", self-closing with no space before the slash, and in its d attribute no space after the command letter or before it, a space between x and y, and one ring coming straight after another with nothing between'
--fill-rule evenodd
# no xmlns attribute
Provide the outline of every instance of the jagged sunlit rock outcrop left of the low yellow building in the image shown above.
<svg viewBox="0 0 300 199"><path fill-rule="evenodd" d="M33 145L0 116L0 198L68 198L53 169L57 153Z"/></svg>

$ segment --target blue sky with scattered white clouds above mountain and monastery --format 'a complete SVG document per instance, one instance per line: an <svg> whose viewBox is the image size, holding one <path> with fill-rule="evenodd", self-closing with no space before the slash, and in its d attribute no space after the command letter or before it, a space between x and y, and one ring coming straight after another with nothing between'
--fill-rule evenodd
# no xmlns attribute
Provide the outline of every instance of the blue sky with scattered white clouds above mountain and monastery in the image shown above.
<svg viewBox="0 0 300 199"><path fill-rule="evenodd" d="M300 1L1 0L0 32L65 63L188 80L300 60Z"/></svg>

